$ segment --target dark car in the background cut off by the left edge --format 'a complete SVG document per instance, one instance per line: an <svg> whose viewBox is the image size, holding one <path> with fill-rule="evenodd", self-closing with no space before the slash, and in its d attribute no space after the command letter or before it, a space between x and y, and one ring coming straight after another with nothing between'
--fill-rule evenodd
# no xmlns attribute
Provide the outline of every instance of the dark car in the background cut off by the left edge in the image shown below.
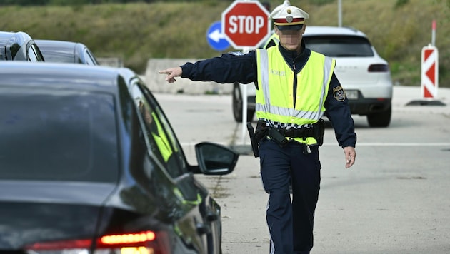
<svg viewBox="0 0 450 254"><path fill-rule="evenodd" d="M0 31L0 61L44 61L39 46L23 31Z"/></svg>

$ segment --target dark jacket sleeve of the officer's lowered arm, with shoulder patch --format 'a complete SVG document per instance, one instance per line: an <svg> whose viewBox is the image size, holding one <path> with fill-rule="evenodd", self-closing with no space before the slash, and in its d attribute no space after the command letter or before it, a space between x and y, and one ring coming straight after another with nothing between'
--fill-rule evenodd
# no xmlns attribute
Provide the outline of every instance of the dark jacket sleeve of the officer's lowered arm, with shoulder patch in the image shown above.
<svg viewBox="0 0 450 254"><path fill-rule="evenodd" d="M338 78L333 73L328 96L326 96L325 101L325 114L326 117L329 118L329 121L331 121L339 146L355 147L356 133L354 121L353 118L351 118L349 100L346 97L344 97L344 100L341 100L341 98L334 93L334 91L339 90L335 89L339 88L339 86L341 86L341 83L339 83Z"/></svg>

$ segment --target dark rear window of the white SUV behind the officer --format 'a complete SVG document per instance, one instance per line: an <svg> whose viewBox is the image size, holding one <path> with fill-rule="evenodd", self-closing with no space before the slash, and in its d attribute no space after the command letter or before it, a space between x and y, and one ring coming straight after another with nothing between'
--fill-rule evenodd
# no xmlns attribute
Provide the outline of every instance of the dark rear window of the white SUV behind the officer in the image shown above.
<svg viewBox="0 0 450 254"><path fill-rule="evenodd" d="M360 36L304 36L306 48L330 57L374 56L369 40Z"/></svg>

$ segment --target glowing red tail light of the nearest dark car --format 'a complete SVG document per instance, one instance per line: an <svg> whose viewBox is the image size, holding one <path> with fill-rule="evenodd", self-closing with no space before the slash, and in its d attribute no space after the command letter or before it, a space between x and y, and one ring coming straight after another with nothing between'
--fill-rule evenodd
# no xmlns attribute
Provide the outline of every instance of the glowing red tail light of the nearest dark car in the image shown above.
<svg viewBox="0 0 450 254"><path fill-rule="evenodd" d="M144 231L104 235L96 240L60 240L54 242L27 245L27 253L34 254L84 254L94 248L94 254L168 254L170 253L169 236L165 232Z"/></svg>

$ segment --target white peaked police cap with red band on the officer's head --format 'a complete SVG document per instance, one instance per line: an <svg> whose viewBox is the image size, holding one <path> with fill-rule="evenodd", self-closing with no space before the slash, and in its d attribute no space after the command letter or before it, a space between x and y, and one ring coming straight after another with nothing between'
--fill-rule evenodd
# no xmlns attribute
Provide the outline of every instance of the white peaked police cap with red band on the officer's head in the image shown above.
<svg viewBox="0 0 450 254"><path fill-rule="evenodd" d="M271 18L280 30L300 30L309 15L299 7L288 5L274 9Z"/></svg>

